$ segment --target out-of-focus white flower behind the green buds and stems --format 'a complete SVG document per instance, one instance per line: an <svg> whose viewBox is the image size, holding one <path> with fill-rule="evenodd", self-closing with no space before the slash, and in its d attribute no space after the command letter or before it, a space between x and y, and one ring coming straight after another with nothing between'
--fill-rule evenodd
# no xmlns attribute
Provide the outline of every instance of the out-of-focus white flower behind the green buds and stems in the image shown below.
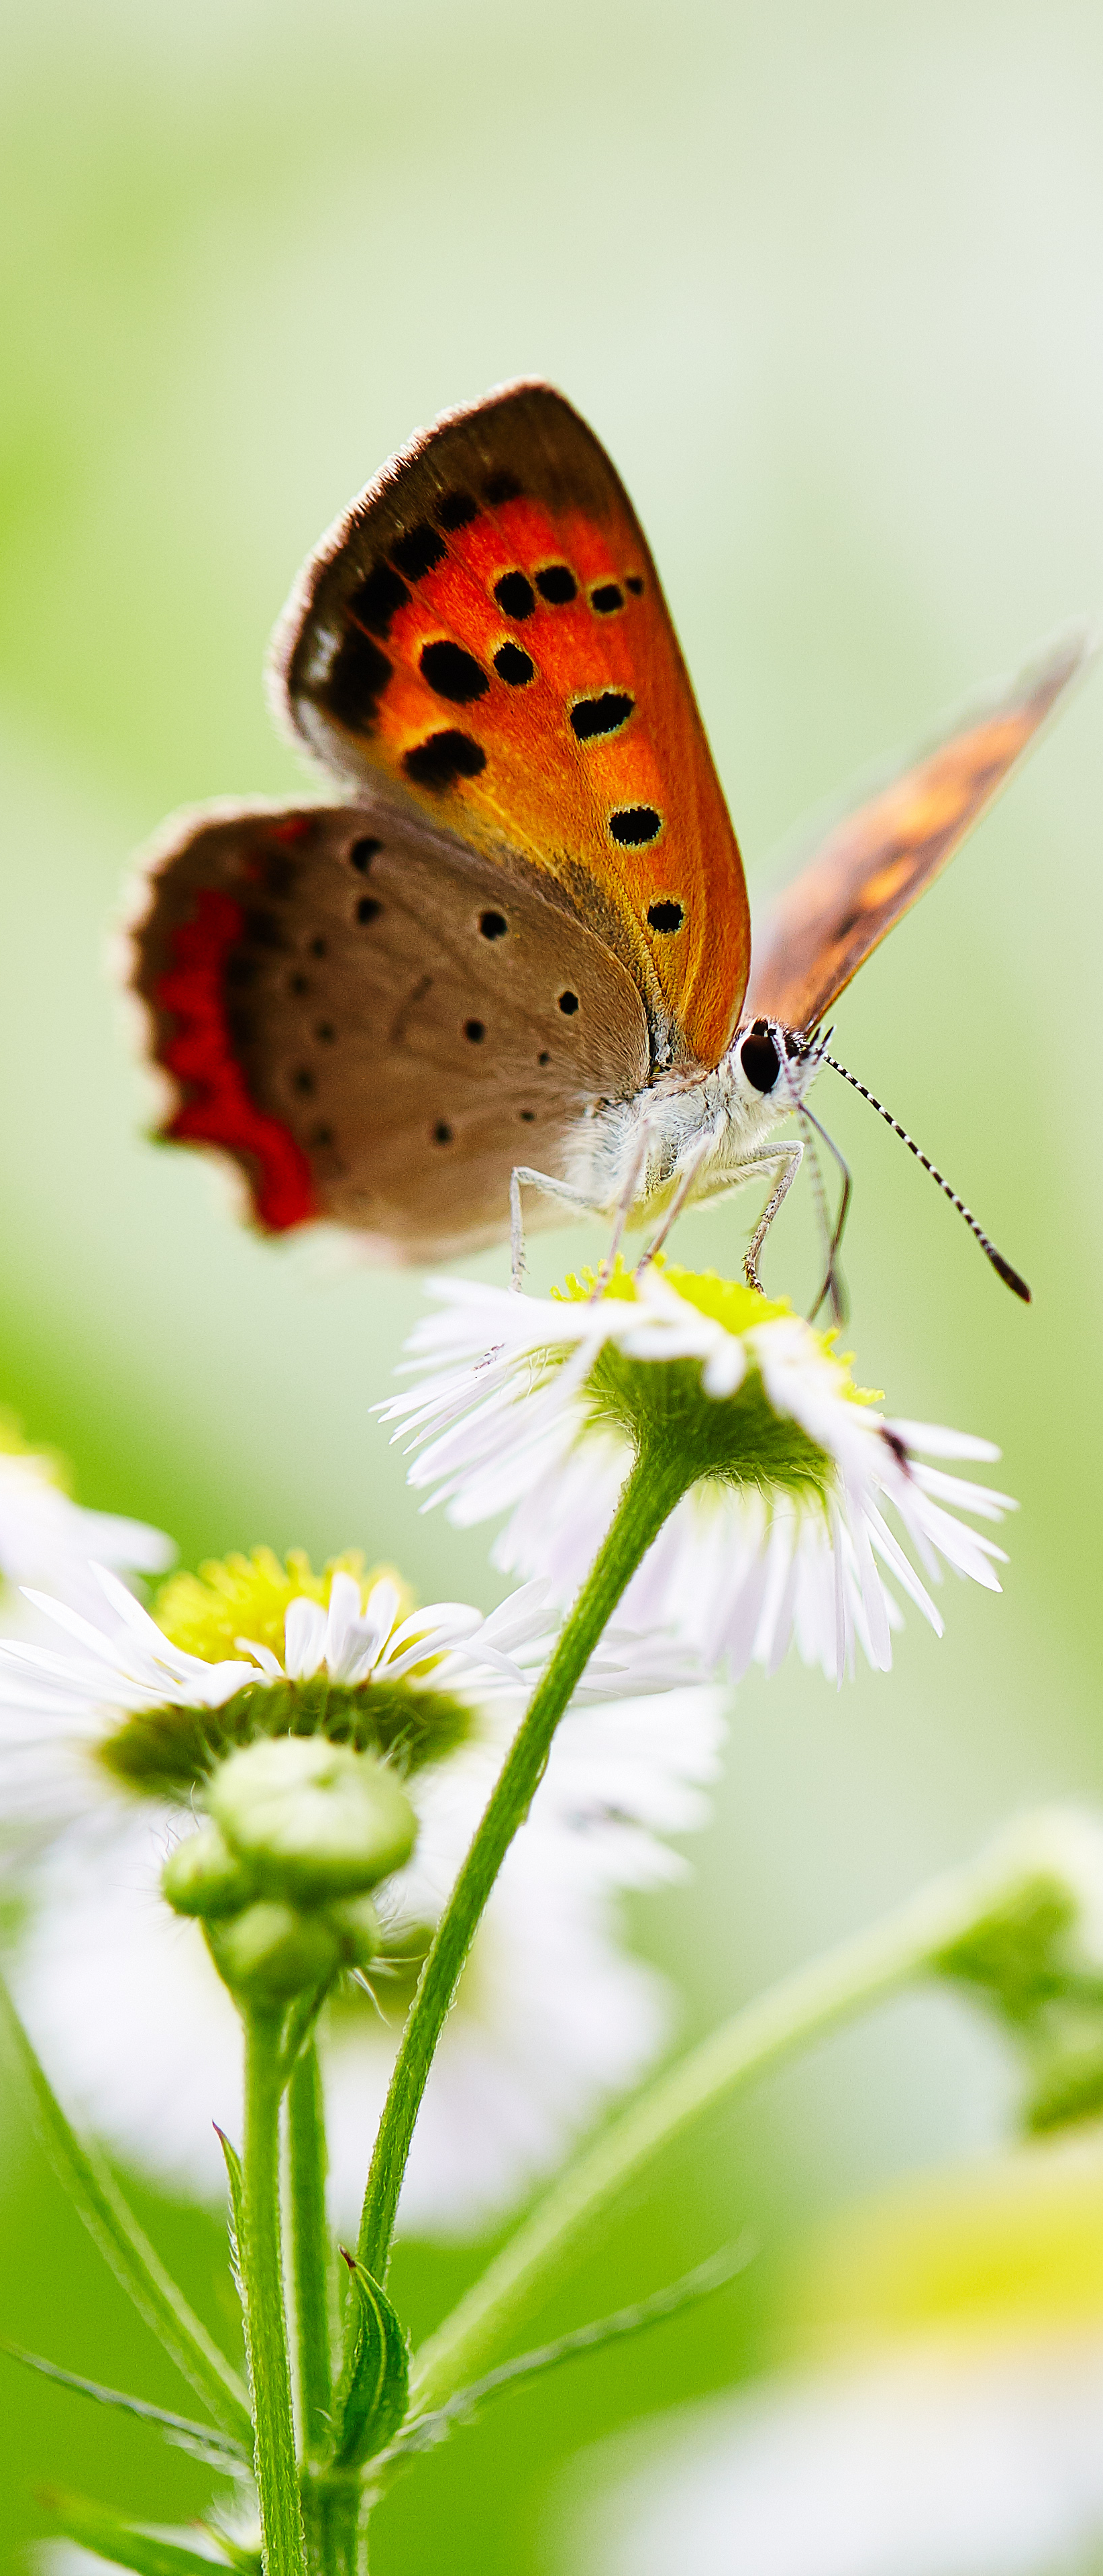
<svg viewBox="0 0 1103 2576"><path fill-rule="evenodd" d="M657 1839L704 1821L722 1700L683 1690L567 1716L508 1852L448 2014L417 2117L402 2226L469 2233L549 2172L670 2027L662 1981L626 1955L619 1891L680 1875ZM376 2002L345 1986L327 2012L332 2213L348 2233L428 1932L484 1808L513 1726L497 1698L479 1734L405 1783L420 1819L387 1883L389 1973ZM67 2102L137 2164L211 2200L211 2120L240 2136L240 2025L198 1924L157 1896L170 1808L116 1811L98 1844L49 1852L15 1991Z"/></svg>

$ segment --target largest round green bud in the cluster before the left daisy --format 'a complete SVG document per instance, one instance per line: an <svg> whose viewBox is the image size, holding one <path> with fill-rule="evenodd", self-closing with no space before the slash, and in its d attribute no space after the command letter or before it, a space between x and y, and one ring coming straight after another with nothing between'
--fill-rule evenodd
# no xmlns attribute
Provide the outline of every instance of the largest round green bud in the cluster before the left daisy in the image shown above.
<svg viewBox="0 0 1103 2576"><path fill-rule="evenodd" d="M410 1860L417 1832L392 1772L325 1736L242 1747L211 1775L206 1803L255 1886L299 1904L366 1893Z"/></svg>

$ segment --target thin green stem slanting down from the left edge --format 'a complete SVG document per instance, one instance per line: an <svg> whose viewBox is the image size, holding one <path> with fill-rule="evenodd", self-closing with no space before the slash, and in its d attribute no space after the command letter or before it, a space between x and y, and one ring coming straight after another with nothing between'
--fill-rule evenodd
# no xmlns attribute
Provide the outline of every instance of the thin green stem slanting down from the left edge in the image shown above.
<svg viewBox="0 0 1103 2576"><path fill-rule="evenodd" d="M46 2156L70 2192L93 2244L134 2300L139 2316L165 2347L180 2375L211 2409L211 2416L237 2442L253 2434L245 2385L219 2352L214 2336L188 2308L160 2254L126 2208L116 2182L70 2128L64 2110L39 2063L8 1986L0 1978L0 2030L31 2094Z"/></svg>

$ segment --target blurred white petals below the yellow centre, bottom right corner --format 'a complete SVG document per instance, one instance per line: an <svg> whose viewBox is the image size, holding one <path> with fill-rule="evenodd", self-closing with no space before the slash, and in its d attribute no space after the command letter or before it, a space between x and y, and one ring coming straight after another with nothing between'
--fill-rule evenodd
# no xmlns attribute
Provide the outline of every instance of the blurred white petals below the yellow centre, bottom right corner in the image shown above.
<svg viewBox="0 0 1103 2576"><path fill-rule="evenodd" d="M907 2352L649 2427L572 2514L593 2576L1075 2576L1103 2543L1103 2336ZM593 2483L575 2465L575 2486ZM1090 2566L1098 2561L1090 2558Z"/></svg>

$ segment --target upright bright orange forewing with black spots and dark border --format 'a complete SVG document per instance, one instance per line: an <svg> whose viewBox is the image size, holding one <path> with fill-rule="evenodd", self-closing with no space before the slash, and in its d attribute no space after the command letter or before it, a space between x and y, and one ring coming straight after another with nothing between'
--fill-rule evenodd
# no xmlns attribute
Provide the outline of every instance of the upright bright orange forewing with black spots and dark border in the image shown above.
<svg viewBox="0 0 1103 2576"><path fill-rule="evenodd" d="M446 412L325 538L276 639L296 734L575 912L660 1064L716 1064L747 889L652 556L546 384Z"/></svg>

